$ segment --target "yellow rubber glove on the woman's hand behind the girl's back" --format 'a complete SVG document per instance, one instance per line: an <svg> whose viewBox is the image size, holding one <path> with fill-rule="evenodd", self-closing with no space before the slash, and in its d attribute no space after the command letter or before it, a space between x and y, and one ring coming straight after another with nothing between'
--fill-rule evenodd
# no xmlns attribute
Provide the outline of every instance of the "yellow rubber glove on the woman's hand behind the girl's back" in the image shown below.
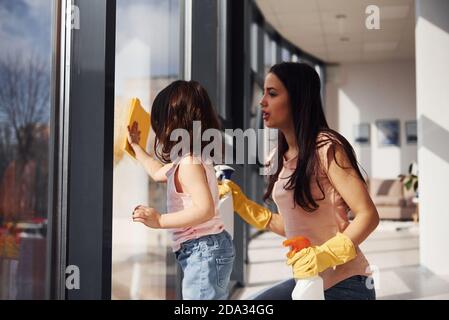
<svg viewBox="0 0 449 320"><path fill-rule="evenodd" d="M266 229L271 220L271 211L267 208L249 200L240 187L231 180L224 180L218 183L220 198L230 193L234 211L250 225L257 229Z"/></svg>

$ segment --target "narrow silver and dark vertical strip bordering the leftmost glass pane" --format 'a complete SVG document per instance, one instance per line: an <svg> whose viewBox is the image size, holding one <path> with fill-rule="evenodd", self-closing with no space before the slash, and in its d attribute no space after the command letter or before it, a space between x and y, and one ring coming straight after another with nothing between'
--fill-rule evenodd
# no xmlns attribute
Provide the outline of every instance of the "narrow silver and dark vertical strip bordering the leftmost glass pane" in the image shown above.
<svg viewBox="0 0 449 320"><path fill-rule="evenodd" d="M71 0L52 5L46 299L66 298Z"/></svg>

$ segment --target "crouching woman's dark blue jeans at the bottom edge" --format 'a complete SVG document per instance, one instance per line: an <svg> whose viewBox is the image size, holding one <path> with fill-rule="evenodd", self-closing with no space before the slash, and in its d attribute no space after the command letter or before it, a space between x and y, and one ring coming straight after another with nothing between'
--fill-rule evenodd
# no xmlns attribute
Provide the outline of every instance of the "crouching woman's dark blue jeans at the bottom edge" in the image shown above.
<svg viewBox="0 0 449 320"><path fill-rule="evenodd" d="M366 276L352 276L340 281L333 287L324 291L326 300L376 300L376 292ZM254 300L291 300L295 288L294 279L288 279L273 287L266 289L254 297ZM369 288L368 288L369 287Z"/></svg>

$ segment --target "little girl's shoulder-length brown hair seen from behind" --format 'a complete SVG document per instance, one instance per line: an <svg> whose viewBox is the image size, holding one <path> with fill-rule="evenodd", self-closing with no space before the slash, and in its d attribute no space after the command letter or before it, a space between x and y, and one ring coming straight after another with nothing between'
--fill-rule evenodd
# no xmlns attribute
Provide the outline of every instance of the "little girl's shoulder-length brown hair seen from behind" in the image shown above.
<svg viewBox="0 0 449 320"><path fill-rule="evenodd" d="M199 137L194 137L193 121L201 121L201 132L197 133L201 134ZM154 152L164 163L172 161L170 151L181 139L181 137L177 141L170 139L173 130L188 131L189 151L193 154L194 139L199 139L202 151L209 143L202 141L203 132L207 129L220 130L221 128L207 91L196 81L183 80L172 82L157 94L151 109L151 126L156 134Z"/></svg>

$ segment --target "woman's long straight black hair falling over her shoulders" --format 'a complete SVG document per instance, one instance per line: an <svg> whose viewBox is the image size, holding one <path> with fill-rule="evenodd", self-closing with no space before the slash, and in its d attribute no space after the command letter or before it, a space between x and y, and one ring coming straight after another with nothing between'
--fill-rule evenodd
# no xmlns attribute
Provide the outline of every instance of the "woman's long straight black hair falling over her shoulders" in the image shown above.
<svg viewBox="0 0 449 320"><path fill-rule="evenodd" d="M320 163L318 150L331 143L331 159L335 158L335 147L341 147L346 153L351 166L357 175L365 182L354 149L351 144L338 132L329 128L321 104L321 82L315 69L305 63L282 62L271 67L270 73L276 75L287 89L293 115L293 124L298 143L298 157L296 169L289 177L285 186L293 190L295 205L298 204L308 212L315 211L319 206L316 200L323 200L325 194L318 180L318 165ZM318 135L320 139L318 140ZM269 177L268 189L264 195L267 200L273 191L274 183L278 179L283 167L283 156L288 149L287 141L279 132L278 135L278 169ZM342 167L340 164L337 165ZM315 179L322 198L314 199L311 192L312 179Z"/></svg>

